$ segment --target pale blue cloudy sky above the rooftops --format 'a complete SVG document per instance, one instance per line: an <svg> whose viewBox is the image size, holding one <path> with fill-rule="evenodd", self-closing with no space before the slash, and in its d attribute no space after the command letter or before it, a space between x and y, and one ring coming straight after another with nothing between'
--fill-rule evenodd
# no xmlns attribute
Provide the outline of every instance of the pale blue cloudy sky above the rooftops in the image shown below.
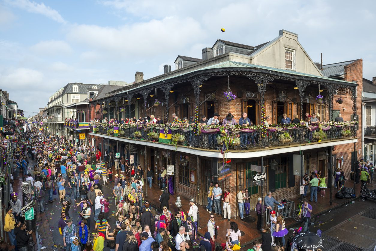
<svg viewBox="0 0 376 251"><path fill-rule="evenodd" d="M28 117L69 82L148 79L174 70L178 55L202 58L217 39L256 46L281 29L313 61L362 58L371 80L375 9L372 0L0 0L0 89Z"/></svg>

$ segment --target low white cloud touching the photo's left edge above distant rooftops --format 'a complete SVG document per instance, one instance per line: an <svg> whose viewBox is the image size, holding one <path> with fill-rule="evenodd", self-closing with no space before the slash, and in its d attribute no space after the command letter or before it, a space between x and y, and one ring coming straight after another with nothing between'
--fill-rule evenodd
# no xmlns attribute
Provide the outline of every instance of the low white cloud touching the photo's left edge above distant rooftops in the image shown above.
<svg viewBox="0 0 376 251"><path fill-rule="evenodd" d="M0 74L0 84L17 88L36 88L43 84L43 74L30 68L16 68Z"/></svg>

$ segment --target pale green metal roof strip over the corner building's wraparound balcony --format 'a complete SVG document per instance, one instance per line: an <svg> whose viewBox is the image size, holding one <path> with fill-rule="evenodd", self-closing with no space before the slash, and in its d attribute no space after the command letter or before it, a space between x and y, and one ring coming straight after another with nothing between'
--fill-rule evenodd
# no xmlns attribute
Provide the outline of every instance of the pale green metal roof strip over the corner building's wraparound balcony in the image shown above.
<svg viewBox="0 0 376 251"><path fill-rule="evenodd" d="M186 73L182 73L182 74L179 74L179 75L171 76L169 78L160 79L158 81L154 81L154 82L151 82L151 83L146 84L146 85L141 85L139 87L135 87L135 88L132 88L132 89L129 89L129 90L121 91L118 94L126 93L126 92L133 91L133 90L136 90L136 89L139 89L139 88L142 88L142 87L147 87L149 85L152 85L152 84L155 84L155 83L158 83L158 82L162 82L162 81L166 81L166 80L169 80L169 79L184 76L184 75L193 73L195 71L221 69L221 68L257 68L257 69L262 69L262 70L269 70L269 71L275 71L275 72L280 72L280 73L285 73L285 74L291 74L291 75L295 75L295 76L313 77L313 78L325 79L325 80L330 80L330 81L335 81L335 82L344 82L344 83L352 84L352 85L354 84L353 82L349 82L349 81L332 79L332 78L328 78L328 77L321 77L321 76L297 72L297 71L283 70L283 69L278 69L278 68L273 68L273 67L260 66L260 65L255 65L255 64L247 64L247 63L234 62L234 61L226 61L226 62L210 65L210 66L207 66L207 67L204 67L204 68L200 68L200 69L197 69L197 70L188 71Z"/></svg>

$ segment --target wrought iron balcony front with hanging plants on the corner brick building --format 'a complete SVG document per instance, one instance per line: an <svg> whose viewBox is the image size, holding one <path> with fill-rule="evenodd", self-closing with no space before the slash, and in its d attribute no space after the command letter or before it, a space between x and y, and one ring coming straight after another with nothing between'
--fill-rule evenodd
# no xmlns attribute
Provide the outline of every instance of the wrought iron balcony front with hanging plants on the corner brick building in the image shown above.
<svg viewBox="0 0 376 251"><path fill-rule="evenodd" d="M201 129L199 135L194 134L193 128L169 128L171 130L171 144L175 146L194 146L203 149L220 149L223 147L223 140L228 149L256 149L273 146L290 146L301 143L317 143L330 140L348 139L356 136L357 126L312 126L312 131L306 127L280 128L267 130L265 137L262 137L262 129L244 129L229 132L220 129ZM93 128L91 132L105 135L114 135L112 127L103 124ZM118 136L123 138L142 141L153 141L159 143L161 131L157 127L139 126L119 128ZM163 132L162 132L163 133ZM226 134L227 136L224 136ZM232 135L232 136L230 136ZM162 143L159 143L162 144Z"/></svg>

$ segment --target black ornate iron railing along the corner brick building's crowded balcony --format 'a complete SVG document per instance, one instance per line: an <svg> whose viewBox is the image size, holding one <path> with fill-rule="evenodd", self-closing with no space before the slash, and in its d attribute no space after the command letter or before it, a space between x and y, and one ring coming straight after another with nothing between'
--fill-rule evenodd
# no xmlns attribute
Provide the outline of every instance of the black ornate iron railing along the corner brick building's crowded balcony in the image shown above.
<svg viewBox="0 0 376 251"><path fill-rule="evenodd" d="M99 134L113 135L111 128L103 127L102 125L93 128L91 126L91 132ZM171 129L171 128L170 128ZM315 131L320 131L316 129ZM315 131L309 131L307 128L294 128L294 129L283 129L282 131L268 130L266 137L261 137L261 130L254 130L253 132L238 132L239 140L234 143L228 143L229 149L252 149L252 148L263 148L271 146L289 146L301 143L311 143L311 142L321 142L327 140L335 140L341 138L352 138L355 137L356 126L333 126L330 129L323 130L323 136L317 138ZM137 132L137 133L136 133ZM159 135L159 129L155 127L132 127L132 128L120 128L117 137L130 138L135 140L148 140L158 142L158 138L149 137L150 132L155 132ZM346 133L344 133L346 132ZM220 138L220 132L209 134L201 132L200 135L195 135L193 130L187 129L176 129L172 130L171 137L175 134L182 134L185 136L183 142L177 142L177 145L182 146L194 146L204 149L220 149L223 146L222 142L218 142ZM291 136L291 138L288 137ZM141 137L139 137L141 136ZM282 137L284 136L284 137ZM287 136L287 137L286 137ZM285 138L288 138L287 140ZM240 141L240 142L239 142ZM162 143L161 143L162 144Z"/></svg>

